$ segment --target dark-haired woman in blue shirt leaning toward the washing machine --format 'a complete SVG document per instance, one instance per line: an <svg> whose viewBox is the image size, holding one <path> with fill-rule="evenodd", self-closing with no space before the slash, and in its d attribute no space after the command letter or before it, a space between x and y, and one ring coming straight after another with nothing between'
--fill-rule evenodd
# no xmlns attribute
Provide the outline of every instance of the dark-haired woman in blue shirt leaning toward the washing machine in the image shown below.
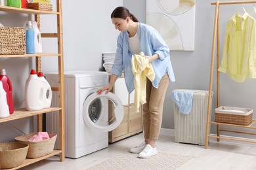
<svg viewBox="0 0 256 170"><path fill-rule="evenodd" d="M121 73L124 73L127 90L134 90L134 76L131 69L133 54L144 52L152 63L156 77L146 82L146 104L143 105L144 142L130 149L139 158L150 158L158 154L156 141L160 133L163 102L169 80L175 81L171 66L169 48L156 29L140 23L125 7L117 7L111 14L112 23L121 31L117 38L117 50L108 86L98 90L98 94L110 92Z"/></svg>

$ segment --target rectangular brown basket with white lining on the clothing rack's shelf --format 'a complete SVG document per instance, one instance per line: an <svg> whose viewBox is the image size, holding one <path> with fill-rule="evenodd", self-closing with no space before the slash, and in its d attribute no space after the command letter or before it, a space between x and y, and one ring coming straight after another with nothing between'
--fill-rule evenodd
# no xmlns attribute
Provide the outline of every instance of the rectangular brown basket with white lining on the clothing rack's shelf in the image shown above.
<svg viewBox="0 0 256 170"><path fill-rule="evenodd" d="M240 107L218 107L215 109L215 122L249 125L253 120L253 109Z"/></svg>

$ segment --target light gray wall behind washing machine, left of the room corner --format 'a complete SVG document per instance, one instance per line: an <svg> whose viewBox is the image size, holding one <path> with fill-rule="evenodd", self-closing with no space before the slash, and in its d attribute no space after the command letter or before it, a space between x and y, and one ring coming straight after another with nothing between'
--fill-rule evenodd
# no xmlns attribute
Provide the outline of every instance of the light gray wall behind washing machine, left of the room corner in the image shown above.
<svg viewBox="0 0 256 170"><path fill-rule="evenodd" d="M116 51L119 31L112 24L110 14L113 9L122 6L123 1L72 2L62 1L64 69L98 71L102 67L102 52ZM48 22L47 16L44 17L42 22ZM47 24L41 25L43 30L53 29ZM45 49L52 48L48 42L45 44ZM42 65L47 65L44 67L46 71L57 71L55 65L49 64L49 58L44 58Z"/></svg>

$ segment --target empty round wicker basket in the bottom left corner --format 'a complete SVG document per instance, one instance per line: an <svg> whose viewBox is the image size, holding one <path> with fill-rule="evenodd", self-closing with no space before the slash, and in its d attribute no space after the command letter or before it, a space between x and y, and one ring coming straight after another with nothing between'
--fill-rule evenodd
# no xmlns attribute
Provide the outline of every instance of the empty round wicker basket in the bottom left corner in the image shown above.
<svg viewBox="0 0 256 170"><path fill-rule="evenodd" d="M0 169L18 167L26 159L28 144L0 143Z"/></svg>

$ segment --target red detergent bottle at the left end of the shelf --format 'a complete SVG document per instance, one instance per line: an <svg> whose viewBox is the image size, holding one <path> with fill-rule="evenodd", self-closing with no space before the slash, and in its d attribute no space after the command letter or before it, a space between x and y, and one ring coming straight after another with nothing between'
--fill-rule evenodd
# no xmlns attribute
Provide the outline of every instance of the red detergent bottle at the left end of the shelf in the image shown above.
<svg viewBox="0 0 256 170"><path fill-rule="evenodd" d="M3 83L3 89L7 93L7 104L9 106L10 114L12 114L14 112L14 104L12 99L12 83L6 74L5 69L0 69L0 80Z"/></svg>

